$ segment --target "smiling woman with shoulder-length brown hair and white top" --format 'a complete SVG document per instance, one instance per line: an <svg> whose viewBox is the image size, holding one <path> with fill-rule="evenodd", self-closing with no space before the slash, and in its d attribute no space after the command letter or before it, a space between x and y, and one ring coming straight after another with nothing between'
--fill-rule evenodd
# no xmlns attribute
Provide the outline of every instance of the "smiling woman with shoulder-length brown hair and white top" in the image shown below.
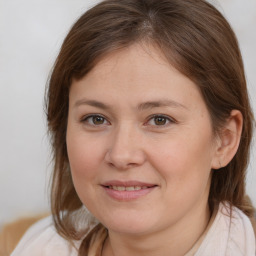
<svg viewBox="0 0 256 256"><path fill-rule="evenodd" d="M106 0L47 95L51 218L16 255L255 255L241 54L204 0Z"/></svg>

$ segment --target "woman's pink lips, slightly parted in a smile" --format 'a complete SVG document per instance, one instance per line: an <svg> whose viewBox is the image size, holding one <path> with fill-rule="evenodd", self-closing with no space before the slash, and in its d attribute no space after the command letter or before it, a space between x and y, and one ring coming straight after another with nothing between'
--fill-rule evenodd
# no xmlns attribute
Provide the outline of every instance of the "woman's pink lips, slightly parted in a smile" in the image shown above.
<svg viewBox="0 0 256 256"><path fill-rule="evenodd" d="M114 190L111 187L112 186L120 186L120 187L141 187L140 190L132 190L132 191L119 191ZM140 181L118 181L118 180L112 180L105 182L101 185L101 187L104 189L106 194L117 201L131 201L139 199L150 192L152 192L154 189L157 188L156 184L152 183L145 183Z"/></svg>

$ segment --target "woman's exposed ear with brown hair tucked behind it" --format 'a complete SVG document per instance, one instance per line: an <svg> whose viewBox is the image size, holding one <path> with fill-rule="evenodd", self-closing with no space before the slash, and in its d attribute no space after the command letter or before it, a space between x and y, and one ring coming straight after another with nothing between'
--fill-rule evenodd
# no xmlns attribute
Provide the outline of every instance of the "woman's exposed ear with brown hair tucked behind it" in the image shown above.
<svg viewBox="0 0 256 256"><path fill-rule="evenodd" d="M242 113L239 110L232 110L217 138L212 169L225 167L232 160L239 147L242 128Z"/></svg>

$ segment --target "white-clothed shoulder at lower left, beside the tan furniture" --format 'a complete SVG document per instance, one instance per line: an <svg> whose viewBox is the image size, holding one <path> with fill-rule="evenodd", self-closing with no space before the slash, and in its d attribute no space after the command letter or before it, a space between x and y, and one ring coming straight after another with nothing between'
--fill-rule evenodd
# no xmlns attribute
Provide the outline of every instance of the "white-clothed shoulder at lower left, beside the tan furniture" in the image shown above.
<svg viewBox="0 0 256 256"><path fill-rule="evenodd" d="M76 256L77 250L61 237L52 221L46 217L35 223L22 237L11 256Z"/></svg>

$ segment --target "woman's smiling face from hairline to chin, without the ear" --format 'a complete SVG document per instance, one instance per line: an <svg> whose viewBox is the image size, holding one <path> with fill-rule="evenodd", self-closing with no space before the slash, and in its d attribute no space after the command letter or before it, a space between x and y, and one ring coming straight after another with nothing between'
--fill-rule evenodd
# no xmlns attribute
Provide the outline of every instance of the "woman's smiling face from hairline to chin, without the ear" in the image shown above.
<svg viewBox="0 0 256 256"><path fill-rule="evenodd" d="M72 82L69 100L73 182L110 231L147 234L207 215L210 116L197 86L158 50L110 54Z"/></svg>

